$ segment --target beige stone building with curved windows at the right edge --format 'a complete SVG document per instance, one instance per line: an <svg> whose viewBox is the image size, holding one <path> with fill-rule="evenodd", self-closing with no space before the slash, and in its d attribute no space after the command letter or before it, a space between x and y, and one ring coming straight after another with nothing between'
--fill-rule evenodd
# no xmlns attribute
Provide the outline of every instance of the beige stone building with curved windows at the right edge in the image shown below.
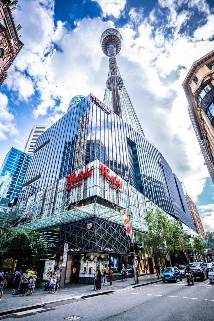
<svg viewBox="0 0 214 321"><path fill-rule="evenodd" d="M183 88L189 116L214 183L214 50L193 63Z"/></svg>

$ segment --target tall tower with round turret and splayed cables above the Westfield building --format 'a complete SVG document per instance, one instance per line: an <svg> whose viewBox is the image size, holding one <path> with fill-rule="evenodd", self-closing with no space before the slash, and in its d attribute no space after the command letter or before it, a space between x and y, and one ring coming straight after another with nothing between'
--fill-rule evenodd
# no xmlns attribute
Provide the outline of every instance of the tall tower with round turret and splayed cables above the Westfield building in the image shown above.
<svg viewBox="0 0 214 321"><path fill-rule="evenodd" d="M105 30L100 38L102 50L104 54L109 57L108 79L103 103L112 109L120 118L123 118L128 124L143 134L140 122L117 67L116 55L118 55L121 50L122 40L123 38L120 32L114 28Z"/></svg>

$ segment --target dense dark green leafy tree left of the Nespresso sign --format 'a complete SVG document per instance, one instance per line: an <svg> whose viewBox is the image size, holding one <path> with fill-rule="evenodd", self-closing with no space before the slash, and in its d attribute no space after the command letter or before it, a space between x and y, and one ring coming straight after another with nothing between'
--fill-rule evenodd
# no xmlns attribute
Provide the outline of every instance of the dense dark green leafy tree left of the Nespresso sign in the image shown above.
<svg viewBox="0 0 214 321"><path fill-rule="evenodd" d="M9 231L6 234L4 257L18 259L17 269L24 259L36 261L47 255L45 239L39 232L28 230Z"/></svg>

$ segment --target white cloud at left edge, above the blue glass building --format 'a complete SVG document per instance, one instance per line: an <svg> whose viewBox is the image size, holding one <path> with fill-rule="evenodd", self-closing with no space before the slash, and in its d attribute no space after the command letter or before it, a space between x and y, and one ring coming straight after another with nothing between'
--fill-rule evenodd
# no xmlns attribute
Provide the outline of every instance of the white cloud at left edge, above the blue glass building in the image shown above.
<svg viewBox="0 0 214 321"><path fill-rule="evenodd" d="M17 135L15 117L8 108L8 99L0 92L0 140L6 140L8 135Z"/></svg>

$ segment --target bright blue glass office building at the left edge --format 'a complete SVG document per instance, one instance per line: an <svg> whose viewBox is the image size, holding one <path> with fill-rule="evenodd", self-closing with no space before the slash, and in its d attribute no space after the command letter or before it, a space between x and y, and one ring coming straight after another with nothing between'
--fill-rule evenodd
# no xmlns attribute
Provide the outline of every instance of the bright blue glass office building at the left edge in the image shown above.
<svg viewBox="0 0 214 321"><path fill-rule="evenodd" d="M19 197L19 194L24 187L23 182L30 158L30 155L15 148L11 148L7 153L0 169L1 204L5 203L4 199L9 203L14 198Z"/></svg>

